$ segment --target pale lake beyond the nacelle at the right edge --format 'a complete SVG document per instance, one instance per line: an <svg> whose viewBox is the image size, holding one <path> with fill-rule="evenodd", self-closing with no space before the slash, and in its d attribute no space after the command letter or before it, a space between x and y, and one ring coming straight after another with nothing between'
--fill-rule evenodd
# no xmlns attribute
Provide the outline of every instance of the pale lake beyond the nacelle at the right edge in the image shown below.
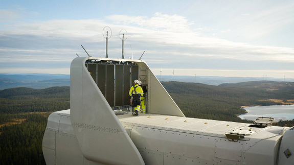
<svg viewBox="0 0 294 165"><path fill-rule="evenodd" d="M241 119L254 121L257 117L273 117L275 122L294 119L294 105L255 106L244 109L248 113L239 115Z"/></svg>

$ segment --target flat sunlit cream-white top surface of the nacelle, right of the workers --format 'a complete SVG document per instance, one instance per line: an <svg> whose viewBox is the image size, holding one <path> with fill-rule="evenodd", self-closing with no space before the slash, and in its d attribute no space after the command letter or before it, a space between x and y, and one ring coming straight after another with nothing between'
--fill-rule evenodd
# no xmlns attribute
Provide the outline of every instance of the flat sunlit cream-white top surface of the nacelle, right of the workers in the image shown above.
<svg viewBox="0 0 294 165"><path fill-rule="evenodd" d="M240 140L250 140L252 137L264 139L281 135L284 131L284 127L268 126L265 128L258 128L252 127L252 124L160 114L140 113L139 116L135 117L130 114L124 114L118 115L118 119L123 125L126 124L224 138L227 138L225 134L235 134L241 136ZM259 134L259 132L263 133Z"/></svg>

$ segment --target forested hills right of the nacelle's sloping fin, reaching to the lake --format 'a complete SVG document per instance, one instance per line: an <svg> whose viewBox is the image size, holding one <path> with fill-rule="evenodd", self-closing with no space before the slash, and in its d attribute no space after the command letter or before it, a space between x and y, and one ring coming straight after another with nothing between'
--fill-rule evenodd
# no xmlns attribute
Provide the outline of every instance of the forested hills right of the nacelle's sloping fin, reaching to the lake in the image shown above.
<svg viewBox="0 0 294 165"><path fill-rule="evenodd" d="M244 122L236 116L245 112L241 106L280 105L282 101L294 104L294 84L279 87L281 82L275 83L273 87L256 88L255 83L244 87L162 82L186 116L235 122Z"/></svg>

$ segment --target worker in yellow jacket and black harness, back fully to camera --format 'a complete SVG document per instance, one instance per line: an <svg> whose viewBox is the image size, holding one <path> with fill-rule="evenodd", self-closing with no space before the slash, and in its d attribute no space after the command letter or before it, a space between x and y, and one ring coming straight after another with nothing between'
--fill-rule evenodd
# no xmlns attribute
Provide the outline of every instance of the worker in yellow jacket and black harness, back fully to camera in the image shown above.
<svg viewBox="0 0 294 165"><path fill-rule="evenodd" d="M130 88L129 96L131 97L132 106L134 107L133 115L138 116L141 104L141 97L143 96L143 90L141 86L139 86L139 80L134 80L134 85Z"/></svg>

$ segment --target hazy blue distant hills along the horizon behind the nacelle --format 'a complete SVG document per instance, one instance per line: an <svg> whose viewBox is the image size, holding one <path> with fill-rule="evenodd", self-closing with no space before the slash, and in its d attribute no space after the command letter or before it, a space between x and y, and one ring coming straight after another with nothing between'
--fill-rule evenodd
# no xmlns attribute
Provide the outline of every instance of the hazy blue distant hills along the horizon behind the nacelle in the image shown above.
<svg viewBox="0 0 294 165"><path fill-rule="evenodd" d="M172 76L155 75L161 82L201 83L207 85L235 84L242 82L294 82L292 78L267 77L223 77L223 76ZM53 86L70 86L70 75L67 74L0 74L0 89L13 87L46 88Z"/></svg>

